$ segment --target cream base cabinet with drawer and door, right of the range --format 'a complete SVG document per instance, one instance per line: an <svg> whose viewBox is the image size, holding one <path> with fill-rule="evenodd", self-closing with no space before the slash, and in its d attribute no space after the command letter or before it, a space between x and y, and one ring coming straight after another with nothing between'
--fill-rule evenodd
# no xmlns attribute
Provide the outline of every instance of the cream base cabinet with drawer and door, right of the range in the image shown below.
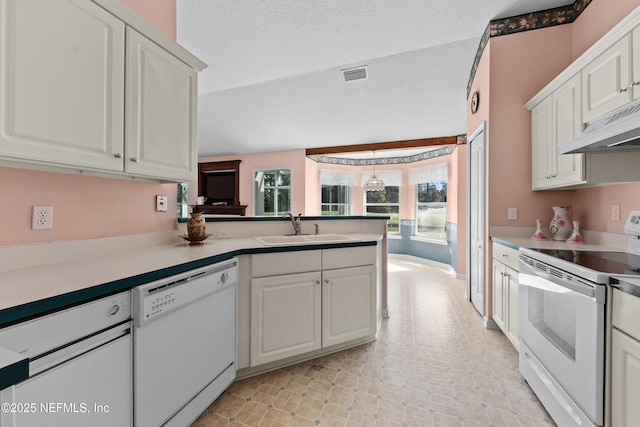
<svg viewBox="0 0 640 427"><path fill-rule="evenodd" d="M640 298L613 290L611 331L611 426L635 426L640 419Z"/></svg>

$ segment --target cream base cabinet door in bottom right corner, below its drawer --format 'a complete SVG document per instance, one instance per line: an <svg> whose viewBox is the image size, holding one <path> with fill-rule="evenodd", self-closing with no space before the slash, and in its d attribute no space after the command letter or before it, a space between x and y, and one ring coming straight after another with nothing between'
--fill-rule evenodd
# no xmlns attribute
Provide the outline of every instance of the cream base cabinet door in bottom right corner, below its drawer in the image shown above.
<svg viewBox="0 0 640 427"><path fill-rule="evenodd" d="M611 353L611 425L635 426L640 419L640 342L613 329Z"/></svg>

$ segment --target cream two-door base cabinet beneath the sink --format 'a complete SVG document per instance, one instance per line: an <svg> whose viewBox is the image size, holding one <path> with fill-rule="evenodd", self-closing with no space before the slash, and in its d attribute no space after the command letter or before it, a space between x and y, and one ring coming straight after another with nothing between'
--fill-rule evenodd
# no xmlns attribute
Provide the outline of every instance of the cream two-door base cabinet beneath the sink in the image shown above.
<svg viewBox="0 0 640 427"><path fill-rule="evenodd" d="M375 246L251 255L249 366L373 339L376 256Z"/></svg>

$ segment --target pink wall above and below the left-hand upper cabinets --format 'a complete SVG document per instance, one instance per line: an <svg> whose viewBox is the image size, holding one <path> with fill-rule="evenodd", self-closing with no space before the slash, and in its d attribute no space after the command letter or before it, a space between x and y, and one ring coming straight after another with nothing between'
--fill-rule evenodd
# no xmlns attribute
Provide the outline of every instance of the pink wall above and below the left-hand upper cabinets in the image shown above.
<svg viewBox="0 0 640 427"><path fill-rule="evenodd" d="M175 39L175 0L124 0ZM175 184L154 184L0 167L0 246L173 230ZM169 197L155 212L155 195ZM33 205L53 206L53 229L31 230Z"/></svg>

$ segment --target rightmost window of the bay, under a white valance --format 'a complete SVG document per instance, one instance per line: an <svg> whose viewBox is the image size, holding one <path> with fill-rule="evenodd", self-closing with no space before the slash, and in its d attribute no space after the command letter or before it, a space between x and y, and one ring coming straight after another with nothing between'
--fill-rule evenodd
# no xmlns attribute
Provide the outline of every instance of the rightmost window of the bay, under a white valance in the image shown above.
<svg viewBox="0 0 640 427"><path fill-rule="evenodd" d="M446 239L447 181L424 182L416 188L416 236Z"/></svg>

